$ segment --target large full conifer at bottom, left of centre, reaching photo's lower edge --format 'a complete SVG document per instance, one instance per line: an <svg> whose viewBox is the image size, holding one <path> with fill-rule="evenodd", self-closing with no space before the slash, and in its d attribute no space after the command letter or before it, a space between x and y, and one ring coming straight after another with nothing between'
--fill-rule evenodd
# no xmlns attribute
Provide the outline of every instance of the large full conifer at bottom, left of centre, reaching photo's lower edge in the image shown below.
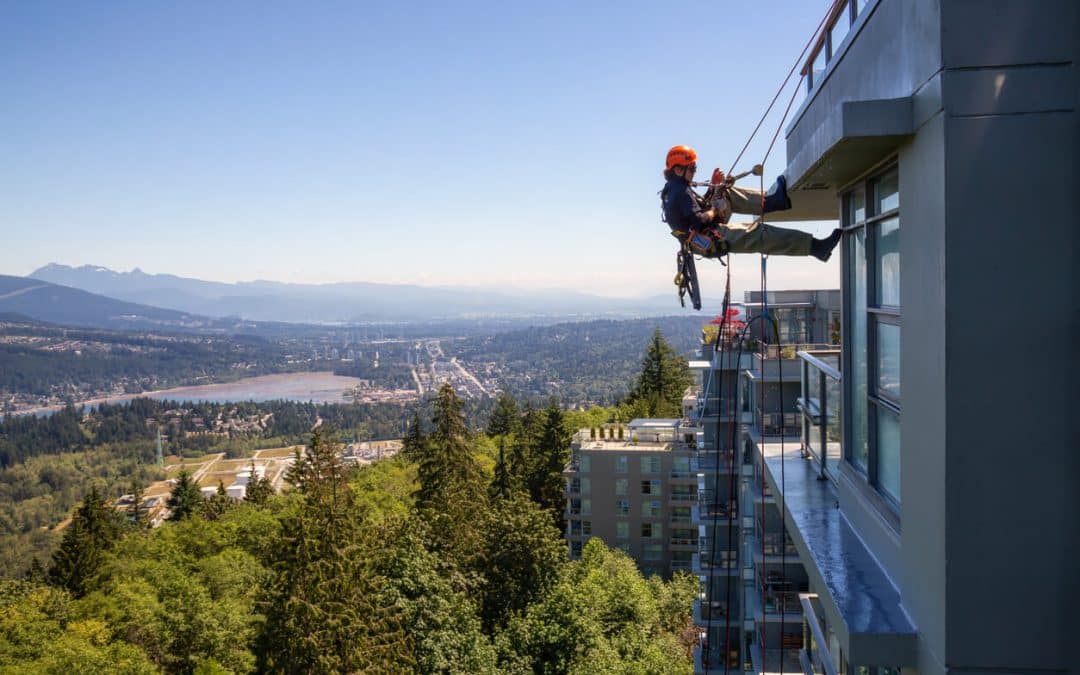
<svg viewBox="0 0 1080 675"><path fill-rule="evenodd" d="M392 673L410 649L374 567L384 542L353 507L345 464L316 429L296 467L301 495L282 518L273 548L276 578L257 644L270 673Z"/></svg>

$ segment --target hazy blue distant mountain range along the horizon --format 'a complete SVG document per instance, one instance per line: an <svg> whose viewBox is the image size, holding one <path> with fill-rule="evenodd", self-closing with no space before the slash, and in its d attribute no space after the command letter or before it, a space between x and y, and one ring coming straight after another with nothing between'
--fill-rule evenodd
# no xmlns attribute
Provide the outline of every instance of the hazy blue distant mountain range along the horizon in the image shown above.
<svg viewBox="0 0 1080 675"><path fill-rule="evenodd" d="M180 315L239 318L298 323L415 322L481 316L621 318L671 314L674 294L645 299L610 299L565 291L517 292L426 287L366 282L286 284L253 281L226 284L138 268L117 272L104 267L50 264L28 278L79 288ZM0 301L0 311L22 311ZM30 313L36 318L45 319ZM147 316L150 314L147 313ZM49 319L45 319L46 321Z"/></svg>

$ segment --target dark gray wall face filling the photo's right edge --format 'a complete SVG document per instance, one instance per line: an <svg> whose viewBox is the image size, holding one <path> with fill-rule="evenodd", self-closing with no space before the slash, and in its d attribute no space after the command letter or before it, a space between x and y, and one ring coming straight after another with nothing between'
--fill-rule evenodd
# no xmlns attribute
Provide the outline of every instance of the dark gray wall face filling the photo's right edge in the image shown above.
<svg viewBox="0 0 1080 675"><path fill-rule="evenodd" d="M1066 542L1080 481L1062 468L1078 446L1078 14L1072 0L942 3L946 659L957 670L1077 661L1068 590L1080 562ZM1029 328L999 319L1022 305Z"/></svg>

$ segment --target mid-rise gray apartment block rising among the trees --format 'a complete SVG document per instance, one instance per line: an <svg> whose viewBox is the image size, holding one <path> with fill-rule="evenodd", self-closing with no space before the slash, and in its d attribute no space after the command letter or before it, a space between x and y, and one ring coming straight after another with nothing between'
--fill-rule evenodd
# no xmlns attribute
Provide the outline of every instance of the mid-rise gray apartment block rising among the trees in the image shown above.
<svg viewBox="0 0 1080 675"><path fill-rule="evenodd" d="M698 550L698 428L684 419L635 419L575 434L566 478L571 558L598 537L645 573L689 570Z"/></svg>

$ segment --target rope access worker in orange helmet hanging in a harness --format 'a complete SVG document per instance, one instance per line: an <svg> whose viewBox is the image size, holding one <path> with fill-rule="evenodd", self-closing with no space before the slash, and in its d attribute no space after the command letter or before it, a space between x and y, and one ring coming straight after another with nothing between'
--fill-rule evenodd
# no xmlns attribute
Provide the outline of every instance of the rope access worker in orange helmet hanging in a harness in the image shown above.
<svg viewBox="0 0 1080 675"><path fill-rule="evenodd" d="M720 257L726 253L764 253L781 256L813 256L821 261L828 260L833 248L840 241L841 231L833 230L825 239L814 239L809 232L789 230L761 222L728 224L731 212L761 215L792 207L787 198L787 183L783 176L764 195L759 190L737 188L719 170L713 172L712 184L724 185L723 190L714 190L713 203L693 191L691 183L698 168L698 153L687 146L675 146L667 151L664 178L667 184L660 193L663 202L664 221L672 234L680 242L706 258Z"/></svg>

